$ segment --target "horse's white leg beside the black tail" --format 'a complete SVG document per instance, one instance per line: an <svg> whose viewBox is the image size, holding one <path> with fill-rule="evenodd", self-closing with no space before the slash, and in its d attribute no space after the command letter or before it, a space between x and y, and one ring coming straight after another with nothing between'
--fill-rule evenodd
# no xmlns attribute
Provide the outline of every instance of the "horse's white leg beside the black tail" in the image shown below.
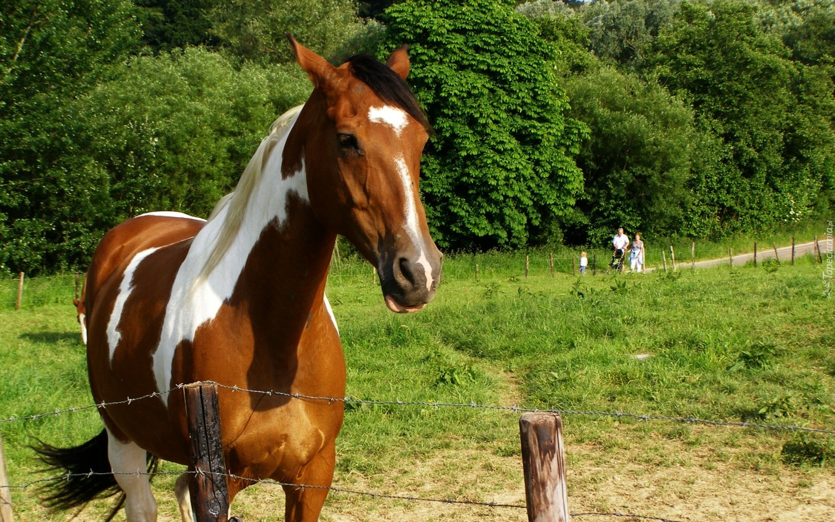
<svg viewBox="0 0 835 522"><path fill-rule="evenodd" d="M110 469L125 494L125 518L128 522L156 522L156 501L145 464L147 452L134 442L120 441L109 429L107 438Z"/></svg>

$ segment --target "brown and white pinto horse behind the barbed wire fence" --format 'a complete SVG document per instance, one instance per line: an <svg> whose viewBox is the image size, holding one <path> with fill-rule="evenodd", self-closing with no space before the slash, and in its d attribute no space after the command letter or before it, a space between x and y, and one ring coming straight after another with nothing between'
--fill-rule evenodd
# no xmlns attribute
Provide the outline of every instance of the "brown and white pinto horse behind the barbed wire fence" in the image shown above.
<svg viewBox="0 0 835 522"><path fill-rule="evenodd" d="M42 447L53 467L117 473L61 481L48 504L83 504L117 490L115 477L129 522L156 519L148 477L136 472L151 456L189 463L183 396L169 393L178 383L343 397L345 359L324 294L337 234L377 266L393 312L433 299L442 255L417 194L428 123L403 82L406 49L386 64L361 55L337 68L290 41L315 89L276 121L210 219L142 215L97 248L82 303L93 396L162 398L99 408L99 436ZM340 402L221 388L229 473L330 485L342 414ZM175 488L186 520L189 476ZM230 496L248 484L229 479ZM316 520L327 494L285 492L286 519L296 521Z"/></svg>

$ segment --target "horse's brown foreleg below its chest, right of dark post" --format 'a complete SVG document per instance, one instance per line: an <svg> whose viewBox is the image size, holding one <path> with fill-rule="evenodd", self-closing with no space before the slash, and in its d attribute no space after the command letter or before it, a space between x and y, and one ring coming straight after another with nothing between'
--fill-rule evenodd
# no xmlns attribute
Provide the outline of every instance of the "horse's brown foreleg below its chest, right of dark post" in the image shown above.
<svg viewBox="0 0 835 522"><path fill-rule="evenodd" d="M307 464L294 481L296 484L330 486L333 481L333 467L337 462L337 449L330 443ZM286 522L315 522L319 519L321 506L325 504L328 490L284 486Z"/></svg>

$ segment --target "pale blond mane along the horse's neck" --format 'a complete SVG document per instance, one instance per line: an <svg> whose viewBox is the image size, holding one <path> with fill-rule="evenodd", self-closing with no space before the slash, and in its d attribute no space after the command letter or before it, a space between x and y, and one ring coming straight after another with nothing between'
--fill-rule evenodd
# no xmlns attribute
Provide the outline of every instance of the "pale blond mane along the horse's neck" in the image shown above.
<svg viewBox="0 0 835 522"><path fill-rule="evenodd" d="M304 107L303 104L293 107L276 119L271 126L270 134L267 134L266 138L261 140L258 150L252 155L252 159L246 165L243 174L240 175L235 191L220 198L214 210L211 211L209 221L223 219L223 222L220 224L220 231L218 231L211 253L200 269L200 275L197 276L195 285L200 281L205 281L211 271L218 266L223 256L226 255L226 252L229 251L232 242L235 241L235 236L240 231L240 226L243 224L246 205L249 203L252 193L256 190L258 182L264 177L264 165L266 160L270 158L272 148L290 132L290 129L292 129L291 123L301 112L302 107ZM227 207L229 210L224 215L221 210ZM220 218L220 216L223 217Z"/></svg>

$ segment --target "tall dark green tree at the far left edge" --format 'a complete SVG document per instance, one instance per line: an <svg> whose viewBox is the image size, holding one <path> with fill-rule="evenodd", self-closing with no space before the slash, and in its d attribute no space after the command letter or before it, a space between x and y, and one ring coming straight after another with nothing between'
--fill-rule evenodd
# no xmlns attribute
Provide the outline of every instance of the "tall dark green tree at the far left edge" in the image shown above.
<svg viewBox="0 0 835 522"><path fill-rule="evenodd" d="M68 103L138 47L126 0L10 0L0 23L0 268L61 266L106 179L89 176ZM72 239L71 239L72 238Z"/></svg>

